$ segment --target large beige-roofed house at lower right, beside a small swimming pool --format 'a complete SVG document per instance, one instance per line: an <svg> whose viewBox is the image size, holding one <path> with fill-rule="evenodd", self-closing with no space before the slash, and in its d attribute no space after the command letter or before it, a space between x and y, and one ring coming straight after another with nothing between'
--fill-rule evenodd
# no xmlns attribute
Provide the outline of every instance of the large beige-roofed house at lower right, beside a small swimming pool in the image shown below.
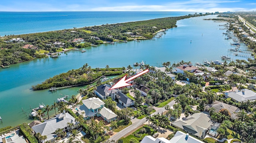
<svg viewBox="0 0 256 143"><path fill-rule="evenodd" d="M203 139L211 126L210 118L204 113L195 113L185 119L176 119L172 126L181 129L190 135Z"/></svg>

